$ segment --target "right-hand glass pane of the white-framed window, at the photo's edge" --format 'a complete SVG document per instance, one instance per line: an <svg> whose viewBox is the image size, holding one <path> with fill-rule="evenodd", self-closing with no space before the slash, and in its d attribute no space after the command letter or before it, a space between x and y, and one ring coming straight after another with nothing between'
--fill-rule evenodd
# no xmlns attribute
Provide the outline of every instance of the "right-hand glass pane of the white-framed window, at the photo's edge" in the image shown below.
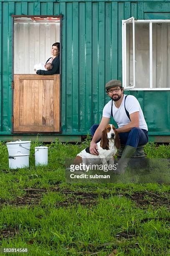
<svg viewBox="0 0 170 256"><path fill-rule="evenodd" d="M152 23L153 88L170 87L170 23Z"/></svg>

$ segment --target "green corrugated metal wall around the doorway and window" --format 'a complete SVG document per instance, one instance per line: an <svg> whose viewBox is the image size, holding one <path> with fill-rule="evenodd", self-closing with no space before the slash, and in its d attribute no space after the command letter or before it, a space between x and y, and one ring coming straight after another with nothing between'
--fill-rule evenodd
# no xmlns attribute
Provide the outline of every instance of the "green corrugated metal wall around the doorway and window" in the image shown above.
<svg viewBox="0 0 170 256"><path fill-rule="evenodd" d="M169 6L170 3L161 1L47 3L0 0L0 135L11 134L12 14L63 15L61 125L63 135L81 135L101 119L104 104L109 100L104 91L105 82L122 80L122 20L131 16L144 19L150 13L159 16L167 12ZM163 17L168 15L164 13ZM170 91L131 93L140 101L152 135L167 135Z"/></svg>

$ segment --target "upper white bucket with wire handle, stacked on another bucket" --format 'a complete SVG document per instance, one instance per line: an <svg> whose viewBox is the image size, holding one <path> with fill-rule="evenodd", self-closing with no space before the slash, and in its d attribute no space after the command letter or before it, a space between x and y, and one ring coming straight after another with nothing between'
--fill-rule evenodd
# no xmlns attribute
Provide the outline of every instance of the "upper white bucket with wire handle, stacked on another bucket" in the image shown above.
<svg viewBox="0 0 170 256"><path fill-rule="evenodd" d="M11 141L7 142L8 155L13 156L16 154L30 154L31 141Z"/></svg>

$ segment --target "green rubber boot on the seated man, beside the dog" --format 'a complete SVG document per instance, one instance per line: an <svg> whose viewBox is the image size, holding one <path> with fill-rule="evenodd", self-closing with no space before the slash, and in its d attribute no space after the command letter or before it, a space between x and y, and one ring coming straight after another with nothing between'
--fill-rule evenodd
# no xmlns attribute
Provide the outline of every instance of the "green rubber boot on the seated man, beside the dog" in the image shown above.
<svg viewBox="0 0 170 256"><path fill-rule="evenodd" d="M115 174L122 174L125 172L125 167L127 167L127 164L135 151L136 148L132 146L125 146L122 156L117 163L117 169L115 170Z"/></svg>

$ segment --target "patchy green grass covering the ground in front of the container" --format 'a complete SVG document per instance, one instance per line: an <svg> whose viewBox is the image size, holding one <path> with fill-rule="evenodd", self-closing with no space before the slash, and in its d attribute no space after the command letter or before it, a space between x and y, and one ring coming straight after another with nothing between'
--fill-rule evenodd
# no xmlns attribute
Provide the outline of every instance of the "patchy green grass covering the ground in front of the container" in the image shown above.
<svg viewBox="0 0 170 256"><path fill-rule="evenodd" d="M36 167L32 142L30 168L10 170L0 143L0 246L29 255L170 255L166 182L66 183L65 159L88 144L51 143L48 166ZM169 145L148 143L145 152L170 158Z"/></svg>

